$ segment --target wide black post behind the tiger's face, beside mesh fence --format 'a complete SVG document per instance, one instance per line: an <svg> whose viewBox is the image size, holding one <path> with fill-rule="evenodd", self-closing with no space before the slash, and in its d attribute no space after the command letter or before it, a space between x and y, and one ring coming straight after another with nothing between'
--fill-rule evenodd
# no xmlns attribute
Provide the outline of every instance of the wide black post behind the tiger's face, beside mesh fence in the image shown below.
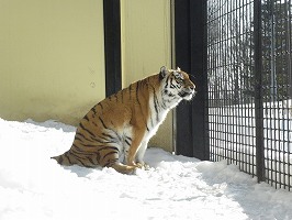
<svg viewBox="0 0 292 220"><path fill-rule="evenodd" d="M176 66L189 73L196 86L196 96L189 103L181 103L176 110L177 154L209 160L205 118L206 72L205 72L205 16L204 0L175 1Z"/></svg>

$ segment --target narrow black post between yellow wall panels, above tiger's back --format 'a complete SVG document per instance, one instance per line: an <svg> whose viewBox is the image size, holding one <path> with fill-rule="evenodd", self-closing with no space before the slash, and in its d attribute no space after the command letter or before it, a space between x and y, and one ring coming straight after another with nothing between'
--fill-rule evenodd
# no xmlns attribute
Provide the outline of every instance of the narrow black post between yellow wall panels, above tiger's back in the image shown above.
<svg viewBox="0 0 292 220"><path fill-rule="evenodd" d="M105 96L121 90L121 12L120 0L103 0Z"/></svg>

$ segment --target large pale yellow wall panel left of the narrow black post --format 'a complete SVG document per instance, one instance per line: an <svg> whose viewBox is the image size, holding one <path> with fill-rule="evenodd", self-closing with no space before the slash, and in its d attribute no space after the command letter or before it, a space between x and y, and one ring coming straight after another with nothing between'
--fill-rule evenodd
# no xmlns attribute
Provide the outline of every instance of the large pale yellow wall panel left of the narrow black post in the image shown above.
<svg viewBox="0 0 292 220"><path fill-rule="evenodd" d="M102 0L0 0L0 118L76 124L104 95Z"/></svg>

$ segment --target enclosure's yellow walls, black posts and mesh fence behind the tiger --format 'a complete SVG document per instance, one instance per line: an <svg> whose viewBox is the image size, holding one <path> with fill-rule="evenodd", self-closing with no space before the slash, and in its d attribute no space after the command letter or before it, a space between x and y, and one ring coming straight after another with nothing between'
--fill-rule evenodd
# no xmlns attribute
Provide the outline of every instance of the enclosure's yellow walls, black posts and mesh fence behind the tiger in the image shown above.
<svg viewBox="0 0 292 220"><path fill-rule="evenodd" d="M198 94L150 145L291 190L291 16L292 0L2 1L0 118L76 125L105 96L180 67Z"/></svg>

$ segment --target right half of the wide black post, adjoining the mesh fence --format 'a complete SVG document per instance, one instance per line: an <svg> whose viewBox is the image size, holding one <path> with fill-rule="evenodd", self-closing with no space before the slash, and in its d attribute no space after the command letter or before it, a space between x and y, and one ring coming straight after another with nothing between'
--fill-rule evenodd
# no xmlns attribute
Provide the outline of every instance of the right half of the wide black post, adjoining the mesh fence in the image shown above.
<svg viewBox="0 0 292 220"><path fill-rule="evenodd" d="M196 84L196 96L192 100L192 146L193 156L200 160L209 160L206 154L205 139L204 139L204 111L205 111L205 72L203 70L204 57L204 0L190 1L190 66L191 73L195 76L194 82ZM202 108L198 108L201 106Z"/></svg>

